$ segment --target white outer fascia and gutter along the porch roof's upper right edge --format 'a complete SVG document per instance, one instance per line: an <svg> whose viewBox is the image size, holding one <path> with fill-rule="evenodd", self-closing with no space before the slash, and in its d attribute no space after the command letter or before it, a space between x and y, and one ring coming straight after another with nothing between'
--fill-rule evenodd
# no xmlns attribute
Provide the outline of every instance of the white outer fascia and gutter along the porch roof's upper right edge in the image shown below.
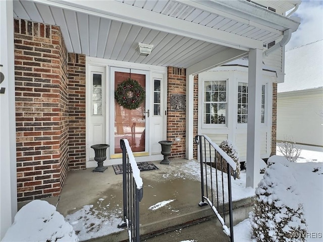
<svg viewBox="0 0 323 242"><path fill-rule="evenodd" d="M260 24L262 26L267 26L276 30L284 31L286 29L292 29L296 31L300 22L294 19L287 18L283 15L279 15L275 12L269 11L267 9L261 8L255 4L249 3L245 0L237 1L199 1L199 0L177 0L185 5L192 6L193 8L198 8L203 11L207 11L215 14L227 13L231 15L231 19L235 19L239 16L241 19L245 19L247 24ZM230 18L228 16L228 18ZM253 25L252 25L253 26Z"/></svg>

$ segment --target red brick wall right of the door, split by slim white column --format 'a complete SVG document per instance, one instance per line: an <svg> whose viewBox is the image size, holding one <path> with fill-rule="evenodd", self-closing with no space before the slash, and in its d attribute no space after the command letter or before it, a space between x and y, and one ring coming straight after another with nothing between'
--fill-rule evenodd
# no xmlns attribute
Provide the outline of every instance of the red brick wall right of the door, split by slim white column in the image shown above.
<svg viewBox="0 0 323 242"><path fill-rule="evenodd" d="M168 67L167 70L167 140L175 141L175 138L181 138L180 142L174 142L172 145L171 159L185 158L186 152L186 111L171 110L170 95L186 95L186 70L184 68ZM198 79L194 77L194 123L193 133L197 135L197 95ZM195 143L195 142L194 142ZM194 144L194 157L197 158L197 147Z"/></svg>

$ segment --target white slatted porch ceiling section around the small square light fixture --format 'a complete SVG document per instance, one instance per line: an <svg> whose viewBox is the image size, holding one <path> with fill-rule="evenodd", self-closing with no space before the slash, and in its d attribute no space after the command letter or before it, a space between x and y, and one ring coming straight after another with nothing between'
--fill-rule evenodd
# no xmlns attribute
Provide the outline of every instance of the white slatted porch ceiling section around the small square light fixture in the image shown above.
<svg viewBox="0 0 323 242"><path fill-rule="evenodd" d="M117 61L187 68L228 48L29 1L14 1L14 17L60 26L69 52ZM138 42L151 54L139 56Z"/></svg>

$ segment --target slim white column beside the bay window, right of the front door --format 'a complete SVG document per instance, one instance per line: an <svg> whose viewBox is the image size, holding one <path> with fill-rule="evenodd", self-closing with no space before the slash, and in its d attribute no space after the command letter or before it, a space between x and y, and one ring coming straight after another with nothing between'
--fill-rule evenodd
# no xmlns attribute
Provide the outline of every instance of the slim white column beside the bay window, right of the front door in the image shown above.
<svg viewBox="0 0 323 242"><path fill-rule="evenodd" d="M187 70L186 70L187 71ZM186 75L186 159L193 159L194 76Z"/></svg>

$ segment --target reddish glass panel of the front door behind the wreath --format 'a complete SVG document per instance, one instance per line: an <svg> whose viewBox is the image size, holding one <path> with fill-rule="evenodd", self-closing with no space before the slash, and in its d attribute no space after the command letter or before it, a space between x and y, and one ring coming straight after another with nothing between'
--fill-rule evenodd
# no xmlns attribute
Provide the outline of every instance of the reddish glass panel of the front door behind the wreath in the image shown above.
<svg viewBox="0 0 323 242"><path fill-rule="evenodd" d="M136 80L145 90L146 75L115 72L115 90L128 78ZM131 95L131 94L129 94ZM133 152L145 151L145 101L133 110L124 108L115 99L115 154L122 153L120 139L128 139Z"/></svg>

